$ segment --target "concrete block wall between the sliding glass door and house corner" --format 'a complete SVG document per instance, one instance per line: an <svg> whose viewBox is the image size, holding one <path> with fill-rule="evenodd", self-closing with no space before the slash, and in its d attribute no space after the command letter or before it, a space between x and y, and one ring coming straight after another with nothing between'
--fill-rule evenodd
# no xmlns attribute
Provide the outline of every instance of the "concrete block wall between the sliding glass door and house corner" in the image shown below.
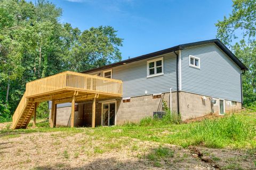
<svg viewBox="0 0 256 170"><path fill-rule="evenodd" d="M172 92L172 111L177 111L177 93ZM154 111L162 111L162 102L170 103L170 93L162 94L162 98L153 99L153 95L131 98L130 102L117 101L116 124L137 123L142 118L153 116Z"/></svg>

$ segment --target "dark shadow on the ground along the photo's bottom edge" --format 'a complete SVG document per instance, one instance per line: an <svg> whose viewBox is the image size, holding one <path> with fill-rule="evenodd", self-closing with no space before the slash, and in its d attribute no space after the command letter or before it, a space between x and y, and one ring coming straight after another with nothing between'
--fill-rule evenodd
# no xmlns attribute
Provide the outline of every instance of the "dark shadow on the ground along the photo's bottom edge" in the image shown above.
<svg viewBox="0 0 256 170"><path fill-rule="evenodd" d="M88 158L88 160L93 158ZM151 148L145 155L138 156L138 159L133 160L121 160L112 158L97 158L93 161L86 163L82 166L73 167L67 163L55 163L47 166L36 166L34 169L178 169L181 166L181 162L177 162L176 165L170 164L171 159L174 159L174 150L166 147ZM191 164L191 166L194 166Z"/></svg>

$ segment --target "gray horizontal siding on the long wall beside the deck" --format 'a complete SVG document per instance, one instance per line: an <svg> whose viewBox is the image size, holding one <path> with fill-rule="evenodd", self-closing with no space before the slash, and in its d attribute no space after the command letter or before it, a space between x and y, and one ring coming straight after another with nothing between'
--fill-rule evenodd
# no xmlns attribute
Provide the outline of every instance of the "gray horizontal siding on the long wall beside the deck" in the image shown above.
<svg viewBox="0 0 256 170"><path fill-rule="evenodd" d="M153 60L160 58L150 58ZM112 78L123 81L123 98L141 96L147 94L157 94L176 91L176 56L173 53L164 55L164 75L147 78L147 61L141 60L122 66L112 68ZM101 74L103 71L93 72Z"/></svg>

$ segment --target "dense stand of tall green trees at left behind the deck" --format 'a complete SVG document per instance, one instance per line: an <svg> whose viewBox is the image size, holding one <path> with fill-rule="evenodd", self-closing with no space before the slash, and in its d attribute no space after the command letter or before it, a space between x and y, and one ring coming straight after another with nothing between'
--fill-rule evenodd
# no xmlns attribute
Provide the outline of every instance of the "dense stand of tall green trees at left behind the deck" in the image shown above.
<svg viewBox="0 0 256 170"><path fill-rule="evenodd" d="M13 114L31 80L121 60L123 39L113 27L81 31L61 14L45 0L0 0L0 116Z"/></svg>

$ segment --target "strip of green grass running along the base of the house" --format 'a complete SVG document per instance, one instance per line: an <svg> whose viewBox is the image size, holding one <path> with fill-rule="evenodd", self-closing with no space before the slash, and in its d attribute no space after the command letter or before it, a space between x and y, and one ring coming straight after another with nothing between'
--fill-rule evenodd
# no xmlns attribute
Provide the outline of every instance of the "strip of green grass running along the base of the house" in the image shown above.
<svg viewBox="0 0 256 170"><path fill-rule="evenodd" d="M94 139L109 141L112 139L139 139L142 141L155 141L160 144L170 143L180 145L183 148L189 145L202 145L208 148L231 148L231 149L256 149L256 114L242 112L234 115L226 115L223 118L205 119L202 122L189 124L179 124L175 119L168 122L164 120L145 118L139 124L126 124L123 126L97 127L94 128L50 128L47 122L38 123L39 128L4 129L0 131L2 137L19 135L22 133L43 133L43 132L63 132L56 137L65 137L84 133L93 136ZM178 123L178 124L177 124ZM16 136L15 136L16 137ZM7 137L8 138L8 137ZM60 139L61 140L61 139ZM123 143L123 144L127 144ZM94 149L95 153L104 152L111 148L120 148L119 144L103 145L103 148ZM137 148L132 148L136 150Z"/></svg>

